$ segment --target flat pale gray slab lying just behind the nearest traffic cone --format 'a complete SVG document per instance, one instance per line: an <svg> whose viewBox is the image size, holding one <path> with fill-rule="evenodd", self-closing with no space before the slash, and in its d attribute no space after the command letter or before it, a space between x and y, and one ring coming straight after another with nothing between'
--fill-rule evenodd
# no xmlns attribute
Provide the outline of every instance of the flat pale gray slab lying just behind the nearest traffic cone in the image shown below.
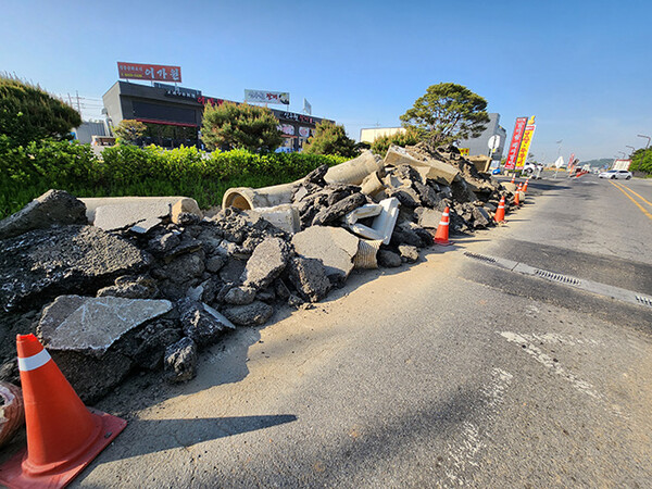
<svg viewBox="0 0 652 489"><path fill-rule="evenodd" d="M166 300L60 296L38 324L46 348L101 356L123 335L172 310Z"/></svg>

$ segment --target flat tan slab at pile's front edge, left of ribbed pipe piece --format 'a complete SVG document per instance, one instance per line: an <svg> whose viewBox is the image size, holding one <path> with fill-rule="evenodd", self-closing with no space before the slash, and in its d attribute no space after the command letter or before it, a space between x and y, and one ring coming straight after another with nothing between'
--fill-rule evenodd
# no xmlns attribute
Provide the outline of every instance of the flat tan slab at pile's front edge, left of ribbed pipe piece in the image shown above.
<svg viewBox="0 0 652 489"><path fill-rule="evenodd" d="M298 254L321 260L334 285L344 283L353 269L359 238L340 227L313 226L296 234L292 244Z"/></svg>

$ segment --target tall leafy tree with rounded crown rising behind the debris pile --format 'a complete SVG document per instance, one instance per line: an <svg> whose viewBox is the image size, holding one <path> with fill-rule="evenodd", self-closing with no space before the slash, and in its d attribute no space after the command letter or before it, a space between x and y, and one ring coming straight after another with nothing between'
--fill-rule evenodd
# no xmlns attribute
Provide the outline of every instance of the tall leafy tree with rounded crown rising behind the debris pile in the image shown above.
<svg viewBox="0 0 652 489"><path fill-rule="evenodd" d="M478 137L487 127L487 101L468 88L451 83L431 85L401 121L423 131L435 145Z"/></svg>

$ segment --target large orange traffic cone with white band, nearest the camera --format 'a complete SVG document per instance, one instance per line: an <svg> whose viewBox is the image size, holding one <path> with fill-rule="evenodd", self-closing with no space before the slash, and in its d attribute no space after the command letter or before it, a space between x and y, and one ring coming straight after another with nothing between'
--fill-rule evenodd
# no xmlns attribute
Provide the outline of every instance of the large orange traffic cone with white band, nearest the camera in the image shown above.
<svg viewBox="0 0 652 489"><path fill-rule="evenodd" d="M16 337L27 450L0 466L0 485L65 487L127 426L90 411L34 335Z"/></svg>

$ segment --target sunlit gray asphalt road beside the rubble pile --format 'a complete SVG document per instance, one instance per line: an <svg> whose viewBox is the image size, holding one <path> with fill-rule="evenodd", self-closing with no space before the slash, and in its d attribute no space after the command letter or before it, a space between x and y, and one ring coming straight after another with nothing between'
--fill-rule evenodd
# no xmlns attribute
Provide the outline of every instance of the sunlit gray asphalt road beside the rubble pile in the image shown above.
<svg viewBox="0 0 652 489"><path fill-rule="evenodd" d="M616 185L532 183L506 225L238 330L185 386L135 379L73 486L650 487L652 306L464 254L652 296L652 217Z"/></svg>

